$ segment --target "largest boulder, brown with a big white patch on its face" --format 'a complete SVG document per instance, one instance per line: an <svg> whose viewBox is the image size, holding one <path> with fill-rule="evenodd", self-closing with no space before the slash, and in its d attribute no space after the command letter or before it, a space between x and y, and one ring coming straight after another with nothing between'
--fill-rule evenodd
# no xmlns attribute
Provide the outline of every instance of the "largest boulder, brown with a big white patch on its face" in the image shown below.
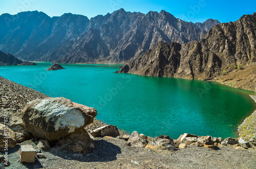
<svg viewBox="0 0 256 169"><path fill-rule="evenodd" d="M66 98L46 98L29 102L22 119L35 137L51 142L93 123L96 115L96 109Z"/></svg>

